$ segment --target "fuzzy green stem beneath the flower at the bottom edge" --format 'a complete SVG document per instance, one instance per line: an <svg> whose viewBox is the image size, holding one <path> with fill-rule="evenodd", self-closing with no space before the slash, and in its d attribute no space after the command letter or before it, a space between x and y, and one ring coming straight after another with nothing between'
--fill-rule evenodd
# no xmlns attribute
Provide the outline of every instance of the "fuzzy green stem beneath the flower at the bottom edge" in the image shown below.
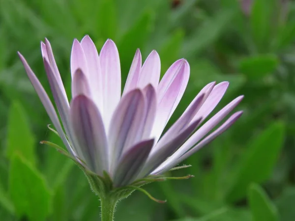
<svg viewBox="0 0 295 221"><path fill-rule="evenodd" d="M114 221L114 213L117 200L110 195L100 198L101 221Z"/></svg>

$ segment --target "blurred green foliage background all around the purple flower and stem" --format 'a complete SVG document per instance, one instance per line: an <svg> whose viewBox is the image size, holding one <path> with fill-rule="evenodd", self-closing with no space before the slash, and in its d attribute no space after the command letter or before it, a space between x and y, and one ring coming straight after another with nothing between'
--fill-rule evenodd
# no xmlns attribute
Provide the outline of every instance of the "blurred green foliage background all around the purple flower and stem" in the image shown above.
<svg viewBox="0 0 295 221"><path fill-rule="evenodd" d="M85 34L99 50L116 42L123 82L137 48L144 59L157 50L162 74L188 60L190 81L169 125L209 82L230 82L216 110L245 95L238 122L190 157L191 167L168 174L194 178L145 186L167 203L135 192L118 203L116 221L295 220L295 2L0 0L1 221L100 220L83 172L39 144L62 145L16 53L49 92L40 52L47 37L70 93L71 44Z"/></svg>

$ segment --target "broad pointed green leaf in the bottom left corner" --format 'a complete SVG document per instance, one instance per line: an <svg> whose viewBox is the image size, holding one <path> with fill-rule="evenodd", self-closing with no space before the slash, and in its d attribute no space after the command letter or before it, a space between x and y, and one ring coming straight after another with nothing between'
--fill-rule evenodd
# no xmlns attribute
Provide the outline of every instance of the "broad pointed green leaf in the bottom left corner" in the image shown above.
<svg viewBox="0 0 295 221"><path fill-rule="evenodd" d="M51 193L41 174L20 155L10 165L9 193L18 216L45 221L50 213Z"/></svg>

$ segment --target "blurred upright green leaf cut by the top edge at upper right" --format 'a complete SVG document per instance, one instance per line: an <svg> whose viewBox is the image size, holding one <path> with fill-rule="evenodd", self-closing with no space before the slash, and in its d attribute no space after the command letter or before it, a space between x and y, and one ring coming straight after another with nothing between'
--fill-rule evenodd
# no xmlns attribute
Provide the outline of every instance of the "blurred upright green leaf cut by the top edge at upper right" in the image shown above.
<svg viewBox="0 0 295 221"><path fill-rule="evenodd" d="M277 0L254 0L250 17L253 40L259 52L268 50Z"/></svg>

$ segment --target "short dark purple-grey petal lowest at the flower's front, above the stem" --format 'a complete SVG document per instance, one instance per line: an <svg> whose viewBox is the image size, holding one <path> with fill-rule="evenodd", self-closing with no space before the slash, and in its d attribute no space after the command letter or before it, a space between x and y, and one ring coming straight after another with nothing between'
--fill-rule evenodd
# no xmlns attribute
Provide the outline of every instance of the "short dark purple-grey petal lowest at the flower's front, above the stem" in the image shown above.
<svg viewBox="0 0 295 221"><path fill-rule="evenodd" d="M128 185L136 179L148 158L153 144L154 139L144 140L135 144L123 154L113 175L116 187Z"/></svg>

